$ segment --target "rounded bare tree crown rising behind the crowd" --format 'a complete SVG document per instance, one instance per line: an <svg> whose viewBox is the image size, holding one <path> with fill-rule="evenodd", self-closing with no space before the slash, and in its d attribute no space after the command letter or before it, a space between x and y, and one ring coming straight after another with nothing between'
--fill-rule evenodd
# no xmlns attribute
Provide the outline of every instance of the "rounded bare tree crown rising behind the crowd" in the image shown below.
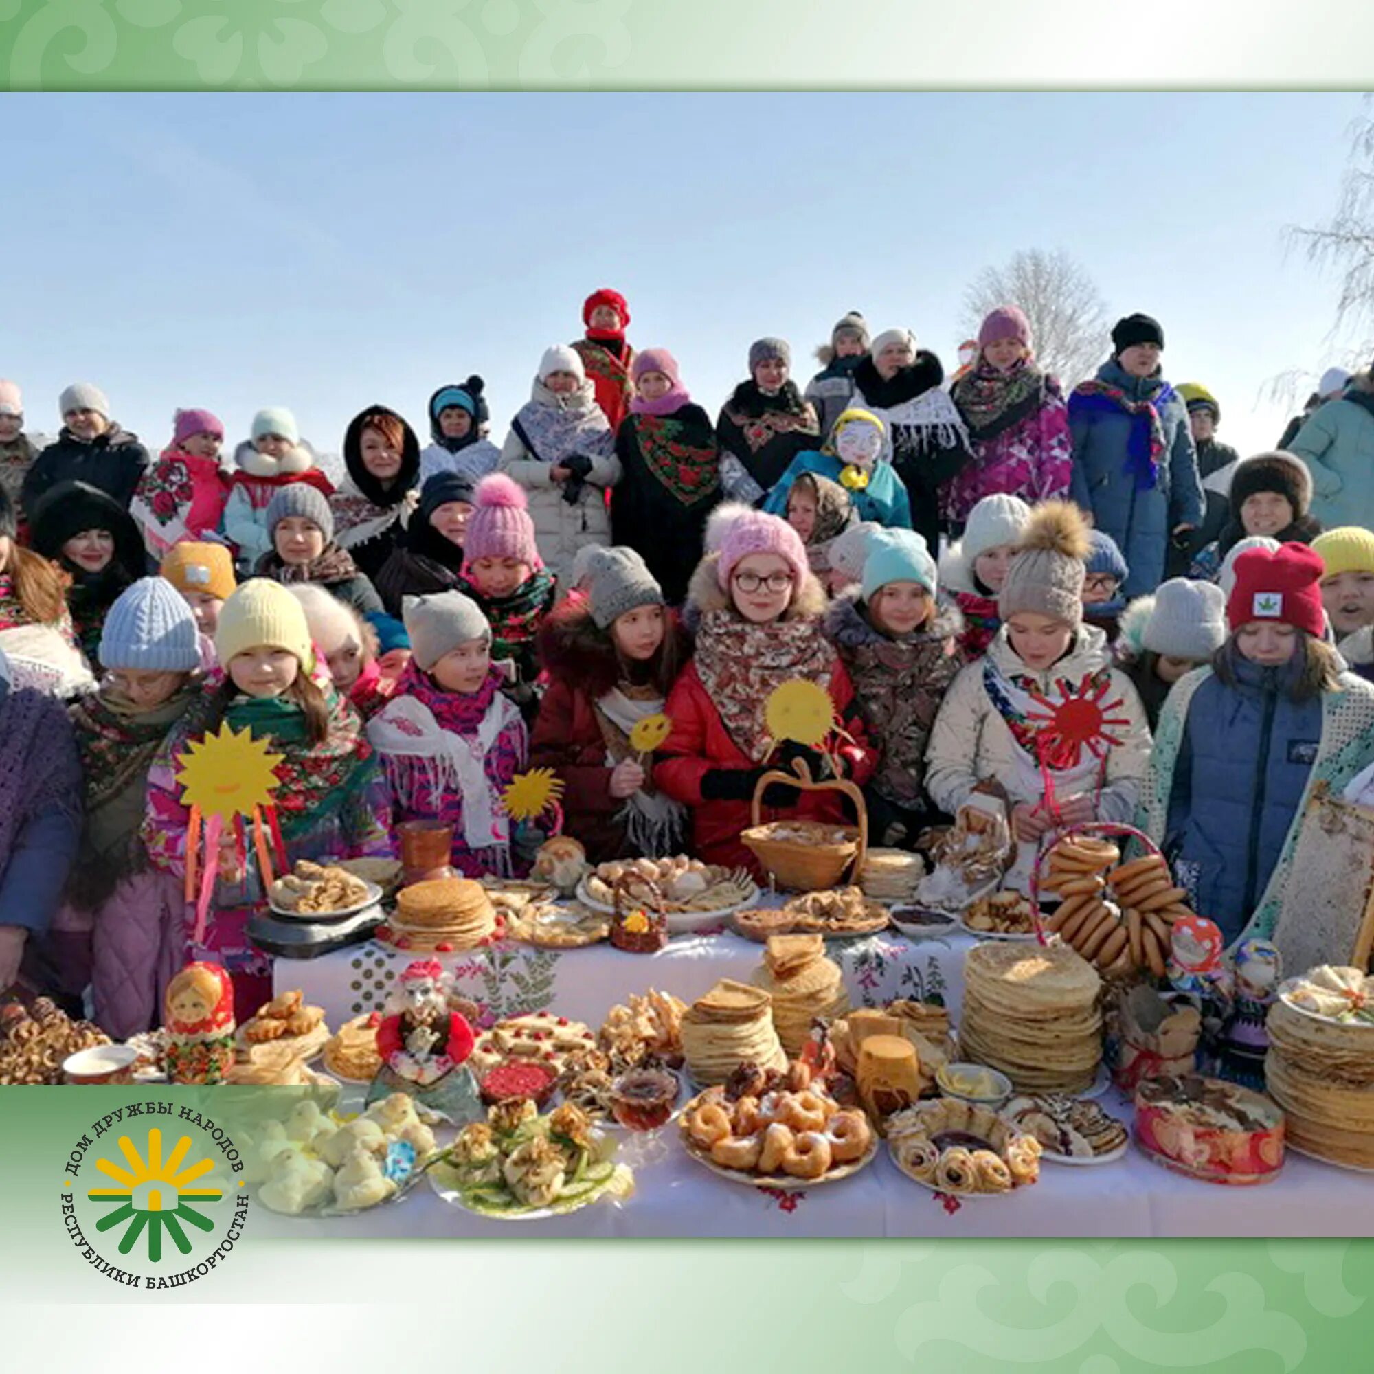
<svg viewBox="0 0 1374 1374"><path fill-rule="evenodd" d="M1040 365L1066 387L1090 376L1110 350L1102 297L1062 249L1024 249L1006 267L984 268L965 291L963 305L971 334L989 311L1020 305L1030 322Z"/></svg>

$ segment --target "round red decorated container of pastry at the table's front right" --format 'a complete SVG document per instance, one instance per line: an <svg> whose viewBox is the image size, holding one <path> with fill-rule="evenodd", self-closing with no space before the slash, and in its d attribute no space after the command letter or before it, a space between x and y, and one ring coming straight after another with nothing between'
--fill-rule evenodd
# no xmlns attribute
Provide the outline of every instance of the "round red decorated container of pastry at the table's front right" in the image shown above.
<svg viewBox="0 0 1374 1374"><path fill-rule="evenodd" d="M1156 1162L1206 1183L1267 1183L1283 1167L1282 1109L1250 1088L1194 1073L1140 1080L1135 1138Z"/></svg>

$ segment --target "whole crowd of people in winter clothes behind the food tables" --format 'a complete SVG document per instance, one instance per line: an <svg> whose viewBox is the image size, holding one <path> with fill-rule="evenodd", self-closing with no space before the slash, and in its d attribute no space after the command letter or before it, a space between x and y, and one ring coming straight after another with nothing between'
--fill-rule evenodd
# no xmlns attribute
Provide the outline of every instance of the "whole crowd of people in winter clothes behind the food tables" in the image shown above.
<svg viewBox="0 0 1374 1374"><path fill-rule="evenodd" d="M714 422L618 293L583 323L499 448L471 375L430 396L425 447L363 409L338 488L280 405L228 460L214 414L177 411L151 458L98 386L38 444L0 381L0 991L85 999L120 1037L190 958L228 967L240 1018L267 1000L232 827L203 926L185 900L177 758L223 721L280 756L293 861L392 856L440 818L455 868L521 874L544 833L502 794L537 765L592 861L756 868L750 802L802 758L861 786L883 845L1000 796L1010 886L1048 831L1135 820L1227 940L1265 933L1309 789L1374 761L1369 370L1242 458L1146 315L1065 394L1015 306L948 385L849 312L804 386L753 342ZM835 747L771 736L794 679ZM763 804L842 820L837 798Z"/></svg>

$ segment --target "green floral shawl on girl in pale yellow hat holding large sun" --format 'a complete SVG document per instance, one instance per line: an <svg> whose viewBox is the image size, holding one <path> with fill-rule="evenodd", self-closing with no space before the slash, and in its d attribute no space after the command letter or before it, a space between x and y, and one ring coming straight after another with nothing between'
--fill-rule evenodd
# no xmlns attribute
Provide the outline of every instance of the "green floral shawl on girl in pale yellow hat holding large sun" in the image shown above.
<svg viewBox="0 0 1374 1374"><path fill-rule="evenodd" d="M344 811L372 774L372 747L363 738L356 712L333 688L326 702L328 735L319 745L306 738L301 708L280 697L236 697L224 713L234 730L246 725L254 739L271 739L273 752L283 756L273 800L287 841Z"/></svg>

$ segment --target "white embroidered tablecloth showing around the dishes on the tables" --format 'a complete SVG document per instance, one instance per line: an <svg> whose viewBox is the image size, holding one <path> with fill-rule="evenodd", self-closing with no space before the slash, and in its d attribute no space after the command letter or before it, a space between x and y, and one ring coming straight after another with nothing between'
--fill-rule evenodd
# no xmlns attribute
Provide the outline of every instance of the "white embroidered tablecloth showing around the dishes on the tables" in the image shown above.
<svg viewBox="0 0 1374 1374"><path fill-rule="evenodd" d="M958 1022L963 956L973 947L955 934L914 943L896 933L830 941L859 1006L893 998L940 996ZM763 948L731 933L676 937L654 955L610 945L562 954L503 944L441 955L459 991L488 1017L547 1007L600 1025L607 1009L631 992L655 987L684 1000L719 978L747 981ZM328 1022L379 1006L409 955L371 943L313 960L280 960L278 989L300 987L323 1006ZM1116 1090L1103 1105L1129 1118ZM1374 1178L1289 1151L1272 1183L1224 1187L1154 1164L1132 1143L1107 1165L1044 1164L1040 1182L1013 1194L941 1200L907 1179L881 1147L861 1173L804 1194L768 1194L702 1168L664 1132L668 1154L639 1172L624 1205L599 1202L569 1216L513 1226L464 1212L422 1183L394 1205L353 1217L284 1219L264 1224L287 1235L367 1237L1359 1237L1374 1231Z"/></svg>

